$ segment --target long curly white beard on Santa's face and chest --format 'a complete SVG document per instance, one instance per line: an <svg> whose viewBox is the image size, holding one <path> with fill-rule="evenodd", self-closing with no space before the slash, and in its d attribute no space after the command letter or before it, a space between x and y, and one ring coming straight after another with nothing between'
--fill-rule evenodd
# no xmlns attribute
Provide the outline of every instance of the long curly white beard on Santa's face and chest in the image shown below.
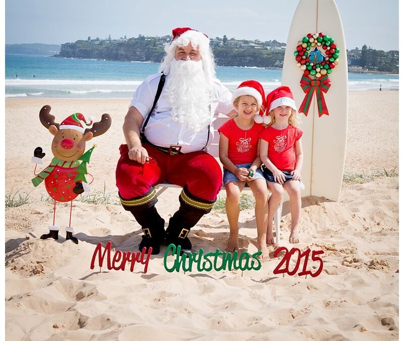
<svg viewBox="0 0 404 341"><path fill-rule="evenodd" d="M171 62L164 94L175 122L187 124L192 132L206 129L211 123L210 92L211 82L204 73L202 61Z"/></svg>

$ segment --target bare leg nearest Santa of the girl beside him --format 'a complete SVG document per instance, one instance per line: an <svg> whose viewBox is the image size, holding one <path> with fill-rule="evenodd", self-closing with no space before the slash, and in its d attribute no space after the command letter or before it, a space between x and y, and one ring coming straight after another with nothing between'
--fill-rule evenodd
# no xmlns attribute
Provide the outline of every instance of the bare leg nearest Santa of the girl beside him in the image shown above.
<svg viewBox="0 0 404 341"><path fill-rule="evenodd" d="M240 214L240 196L244 182L229 182L226 184L226 214L230 225L230 235L226 251L238 250L238 216Z"/></svg>

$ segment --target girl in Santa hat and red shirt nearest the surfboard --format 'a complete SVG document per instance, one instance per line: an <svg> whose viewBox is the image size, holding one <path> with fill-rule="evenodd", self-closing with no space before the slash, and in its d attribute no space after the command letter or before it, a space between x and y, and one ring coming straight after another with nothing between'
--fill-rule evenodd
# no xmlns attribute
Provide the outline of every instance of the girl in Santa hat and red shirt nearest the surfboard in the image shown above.
<svg viewBox="0 0 404 341"><path fill-rule="evenodd" d="M303 163L301 135L297 128L296 105L287 86L280 86L267 96L267 115L271 122L260 135L260 156L264 177L272 195L269 199L267 243L274 243L272 219L282 202L283 190L289 194L292 218L289 242L299 242L298 223L301 211L300 179Z"/></svg>

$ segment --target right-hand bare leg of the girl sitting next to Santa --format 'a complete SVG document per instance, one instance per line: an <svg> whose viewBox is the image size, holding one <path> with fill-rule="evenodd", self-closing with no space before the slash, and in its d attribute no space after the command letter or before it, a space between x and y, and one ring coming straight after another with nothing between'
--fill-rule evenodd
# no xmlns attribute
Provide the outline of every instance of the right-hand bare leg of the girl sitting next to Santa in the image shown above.
<svg viewBox="0 0 404 341"><path fill-rule="evenodd" d="M267 225L268 225L268 189L264 179L257 179L248 182L254 198L256 199L256 221L257 221L257 247L262 251L261 259L269 260L267 249Z"/></svg>

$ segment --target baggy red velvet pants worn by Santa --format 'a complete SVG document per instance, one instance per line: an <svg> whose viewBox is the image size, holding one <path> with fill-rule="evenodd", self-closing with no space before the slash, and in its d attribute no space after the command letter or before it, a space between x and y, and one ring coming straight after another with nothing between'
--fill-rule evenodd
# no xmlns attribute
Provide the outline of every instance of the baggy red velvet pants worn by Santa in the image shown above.
<svg viewBox="0 0 404 341"><path fill-rule="evenodd" d="M144 144L153 160L140 164L128 157L128 146L119 148L121 157L116 180L122 199L131 200L148 193L151 186L163 181L187 187L193 197L214 201L222 186L222 171L215 158L206 152L168 155Z"/></svg>

